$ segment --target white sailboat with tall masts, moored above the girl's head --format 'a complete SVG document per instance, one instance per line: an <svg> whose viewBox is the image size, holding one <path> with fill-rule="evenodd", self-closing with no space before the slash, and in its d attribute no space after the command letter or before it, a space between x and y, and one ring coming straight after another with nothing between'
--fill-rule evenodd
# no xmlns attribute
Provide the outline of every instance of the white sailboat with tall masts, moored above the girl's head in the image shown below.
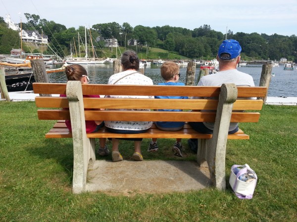
<svg viewBox="0 0 297 222"><path fill-rule="evenodd" d="M71 50L71 44L70 44L70 51L71 51L71 57L70 58L66 58L66 63L67 64L103 64L105 63L105 59L96 59L95 58L95 53L93 51L94 54L94 58L88 58L88 46L87 46L87 28L85 25L85 46L86 46L86 56L85 58L81 58L81 57L72 57L72 50ZM79 41L79 39L78 39ZM91 43L92 43L92 48L94 50L93 47L93 42L92 42L92 38L91 38Z"/></svg>

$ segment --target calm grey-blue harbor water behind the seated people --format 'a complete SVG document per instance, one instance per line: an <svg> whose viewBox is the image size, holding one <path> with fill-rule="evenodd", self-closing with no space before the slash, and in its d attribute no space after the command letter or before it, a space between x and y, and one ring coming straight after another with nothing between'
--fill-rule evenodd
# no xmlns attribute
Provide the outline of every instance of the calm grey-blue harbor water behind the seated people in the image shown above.
<svg viewBox="0 0 297 222"><path fill-rule="evenodd" d="M113 74L112 64L82 65L86 68L90 77L90 83L107 84L108 78ZM58 68L52 66L50 69ZM262 72L262 65L247 65L246 67L238 67L238 70L253 77L255 85L259 85ZM180 82L186 82L187 67L180 68ZM268 90L268 96L285 96L297 97L297 69L284 71L284 66L273 67L271 81ZM199 74L199 68L196 69L196 76ZM145 68L145 75L150 77L154 84L163 82L160 75L160 65L151 64L150 68ZM49 74L49 82L66 82L64 73Z"/></svg>

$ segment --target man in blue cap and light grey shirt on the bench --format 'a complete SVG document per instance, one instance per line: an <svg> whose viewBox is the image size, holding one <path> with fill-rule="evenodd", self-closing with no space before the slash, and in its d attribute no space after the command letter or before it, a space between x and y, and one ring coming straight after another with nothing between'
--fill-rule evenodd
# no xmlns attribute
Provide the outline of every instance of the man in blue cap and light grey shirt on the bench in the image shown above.
<svg viewBox="0 0 297 222"><path fill-rule="evenodd" d="M198 86L221 86L223 83L234 83L237 86L254 86L252 76L246 73L239 72L237 64L240 61L241 46L234 39L227 39L222 42L219 47L217 60L219 61L219 72L215 74L203 76ZM198 97L193 98L198 99ZM193 129L199 133L212 134L214 129L213 122L190 122ZM238 131L238 123L231 122L229 126L229 134ZM198 140L189 139L189 147L197 152Z"/></svg>

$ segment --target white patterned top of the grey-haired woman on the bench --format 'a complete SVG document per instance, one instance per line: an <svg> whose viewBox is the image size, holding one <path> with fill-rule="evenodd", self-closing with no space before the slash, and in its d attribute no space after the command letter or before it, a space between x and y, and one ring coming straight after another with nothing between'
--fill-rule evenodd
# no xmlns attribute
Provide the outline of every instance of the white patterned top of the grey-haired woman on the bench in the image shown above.
<svg viewBox="0 0 297 222"><path fill-rule="evenodd" d="M123 76L130 74L119 81L117 81L116 85L153 85L152 80L141 73L135 73L135 70L127 70L121 73L113 74L108 79L108 84L113 84L118 79L122 78ZM134 73L134 74L132 74ZM105 96L109 98L154 98L153 96ZM125 111L125 109L120 109ZM133 110L132 110L133 111ZM142 111L142 110L140 110ZM149 111L149 110L143 110ZM152 125L152 122L149 121L104 121L106 127L111 129L119 129L119 130L146 130L149 129Z"/></svg>

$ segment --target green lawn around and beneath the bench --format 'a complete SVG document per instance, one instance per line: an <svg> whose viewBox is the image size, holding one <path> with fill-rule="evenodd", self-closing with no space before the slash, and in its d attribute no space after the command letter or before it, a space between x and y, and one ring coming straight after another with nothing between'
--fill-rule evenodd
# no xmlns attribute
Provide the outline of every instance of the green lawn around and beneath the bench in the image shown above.
<svg viewBox="0 0 297 222"><path fill-rule="evenodd" d="M2 101L0 221L297 221L296 123L296 106L266 105L259 123L241 124L250 140L228 141L226 191L73 194L72 140L45 139L53 121L38 120L34 102ZM124 158L133 152L131 143L121 143ZM145 159L177 159L173 141L158 144L160 151L151 154L144 140ZM194 159L183 144L185 159ZM245 163L258 175L250 200L238 199L228 184L231 166Z"/></svg>

